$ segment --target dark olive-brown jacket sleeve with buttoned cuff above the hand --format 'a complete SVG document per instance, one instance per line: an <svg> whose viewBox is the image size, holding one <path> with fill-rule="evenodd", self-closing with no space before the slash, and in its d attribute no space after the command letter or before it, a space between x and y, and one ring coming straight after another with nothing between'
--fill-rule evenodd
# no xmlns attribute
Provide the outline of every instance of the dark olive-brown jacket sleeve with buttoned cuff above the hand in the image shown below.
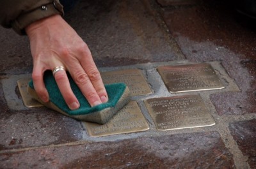
<svg viewBox="0 0 256 169"><path fill-rule="evenodd" d="M0 22L19 34L32 22L52 15L63 15L59 0L0 0Z"/></svg>

